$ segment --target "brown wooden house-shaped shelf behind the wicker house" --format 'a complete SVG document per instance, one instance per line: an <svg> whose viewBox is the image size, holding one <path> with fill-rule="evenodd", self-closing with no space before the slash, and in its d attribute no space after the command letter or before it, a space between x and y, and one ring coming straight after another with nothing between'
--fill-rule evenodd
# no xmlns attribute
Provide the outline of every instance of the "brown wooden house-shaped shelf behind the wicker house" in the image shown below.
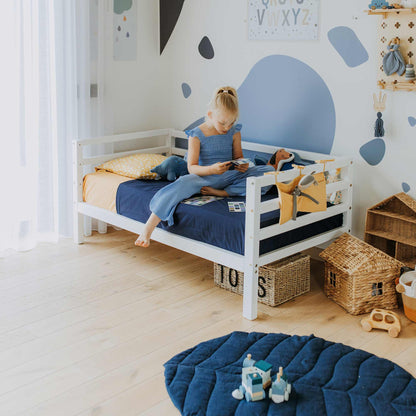
<svg viewBox="0 0 416 416"><path fill-rule="evenodd" d="M416 201L401 192L369 208L364 240L415 268Z"/></svg>

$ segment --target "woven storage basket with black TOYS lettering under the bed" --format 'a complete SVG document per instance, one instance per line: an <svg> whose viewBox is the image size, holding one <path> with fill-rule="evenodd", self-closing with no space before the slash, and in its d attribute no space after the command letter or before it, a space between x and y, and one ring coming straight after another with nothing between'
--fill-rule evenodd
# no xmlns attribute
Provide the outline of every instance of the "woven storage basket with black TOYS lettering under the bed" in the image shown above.
<svg viewBox="0 0 416 416"><path fill-rule="evenodd" d="M231 292L243 294L244 273L214 263L214 282ZM258 300L276 306L310 290L310 257L294 254L259 269Z"/></svg>

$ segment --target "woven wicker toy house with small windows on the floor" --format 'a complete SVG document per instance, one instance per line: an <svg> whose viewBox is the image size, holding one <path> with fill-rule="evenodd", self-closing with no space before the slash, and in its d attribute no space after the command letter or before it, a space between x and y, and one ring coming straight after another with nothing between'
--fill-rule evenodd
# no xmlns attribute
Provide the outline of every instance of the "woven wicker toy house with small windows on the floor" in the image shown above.
<svg viewBox="0 0 416 416"><path fill-rule="evenodd" d="M347 312L397 308L400 261L346 233L320 256L325 260L325 294Z"/></svg>

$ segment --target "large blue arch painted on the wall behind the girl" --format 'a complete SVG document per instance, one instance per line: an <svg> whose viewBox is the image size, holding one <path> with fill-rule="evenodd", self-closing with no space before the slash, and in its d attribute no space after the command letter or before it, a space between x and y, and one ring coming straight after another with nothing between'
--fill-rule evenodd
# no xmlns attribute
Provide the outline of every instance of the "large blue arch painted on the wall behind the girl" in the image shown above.
<svg viewBox="0 0 416 416"><path fill-rule="evenodd" d="M261 59L238 89L245 140L329 154L335 106L323 79L286 55Z"/></svg>

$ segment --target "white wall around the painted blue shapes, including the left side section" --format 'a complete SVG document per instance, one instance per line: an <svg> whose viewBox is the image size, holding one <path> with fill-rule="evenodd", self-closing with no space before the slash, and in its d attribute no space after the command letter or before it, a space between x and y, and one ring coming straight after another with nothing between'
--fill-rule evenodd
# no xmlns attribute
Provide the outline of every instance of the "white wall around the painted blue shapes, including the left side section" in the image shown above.
<svg viewBox="0 0 416 416"><path fill-rule="evenodd" d="M319 41L249 41L247 0L185 0L176 28L159 56L157 1L138 0L138 60L113 62L108 80L116 132L173 126L183 129L205 114L216 86L239 87L261 58L284 54L304 61L325 81L336 109L336 134L332 153L354 157L353 233L363 236L366 209L401 192L407 182L416 198L415 92L387 91L383 112L386 155L369 166L359 149L374 136L376 114L372 94L376 86L376 27L380 17L364 13L368 1L321 0ZM328 41L336 26L354 30L369 53L369 60L349 68ZM203 36L211 40L215 57L198 53ZM192 94L182 95L188 83Z"/></svg>

